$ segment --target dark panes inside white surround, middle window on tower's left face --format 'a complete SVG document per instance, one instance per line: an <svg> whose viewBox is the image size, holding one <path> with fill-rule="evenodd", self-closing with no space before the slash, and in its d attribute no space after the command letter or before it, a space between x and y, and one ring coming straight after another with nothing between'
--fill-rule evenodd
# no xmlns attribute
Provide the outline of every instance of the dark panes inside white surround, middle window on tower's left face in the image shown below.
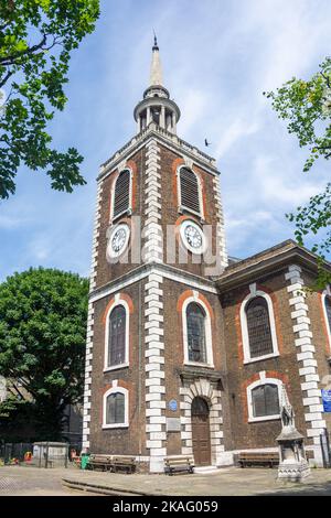
<svg viewBox="0 0 331 518"><path fill-rule="evenodd" d="M107 367L126 363L127 312L120 304L114 307L108 319Z"/></svg>

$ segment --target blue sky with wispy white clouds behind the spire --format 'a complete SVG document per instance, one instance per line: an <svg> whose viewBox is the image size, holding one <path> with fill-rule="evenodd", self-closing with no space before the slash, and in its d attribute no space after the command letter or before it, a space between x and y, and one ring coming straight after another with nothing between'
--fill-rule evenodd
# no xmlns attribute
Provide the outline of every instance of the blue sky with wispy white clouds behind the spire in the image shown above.
<svg viewBox="0 0 331 518"><path fill-rule="evenodd" d="M330 55L329 0L103 0L96 31L74 53L68 104L52 122L57 149L85 157L87 185L54 192L24 168L0 204L0 280L30 266L87 276L98 165L136 131L148 86L152 28L164 85L181 108L178 133L217 159L227 247L247 257L292 237L285 213L329 180L307 174L300 150L263 91L306 78Z"/></svg>

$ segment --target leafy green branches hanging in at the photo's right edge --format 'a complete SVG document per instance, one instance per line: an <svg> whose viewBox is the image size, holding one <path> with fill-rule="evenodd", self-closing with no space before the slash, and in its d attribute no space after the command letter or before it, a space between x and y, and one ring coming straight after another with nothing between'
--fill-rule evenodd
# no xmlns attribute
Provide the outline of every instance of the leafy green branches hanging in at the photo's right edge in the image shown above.
<svg viewBox="0 0 331 518"><path fill-rule="evenodd" d="M318 159L331 159L331 57L325 58L309 80L293 77L276 93L265 95L273 100L279 118L288 121L287 129L297 136L299 145L309 148L305 172L310 171ZM322 268L325 256L331 252L331 183L287 217L296 225L295 234L300 245L305 245L308 235L319 237L312 251L321 258L318 288L323 288L331 282Z"/></svg>

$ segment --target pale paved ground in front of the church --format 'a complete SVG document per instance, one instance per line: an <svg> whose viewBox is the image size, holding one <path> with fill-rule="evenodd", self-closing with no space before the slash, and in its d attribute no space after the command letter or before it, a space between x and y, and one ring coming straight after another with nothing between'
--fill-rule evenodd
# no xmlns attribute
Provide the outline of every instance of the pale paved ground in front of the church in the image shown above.
<svg viewBox="0 0 331 518"><path fill-rule="evenodd" d="M312 470L302 484L276 482L277 470L235 468L218 470L213 474L194 475L125 475L85 472L77 468L0 467L0 496L85 496L90 493L73 490L63 485L63 478L88 487L94 494L108 490L111 494L147 495L329 495L331 496L331 470ZM84 486L84 485L87 486ZM137 493L136 493L137 492Z"/></svg>

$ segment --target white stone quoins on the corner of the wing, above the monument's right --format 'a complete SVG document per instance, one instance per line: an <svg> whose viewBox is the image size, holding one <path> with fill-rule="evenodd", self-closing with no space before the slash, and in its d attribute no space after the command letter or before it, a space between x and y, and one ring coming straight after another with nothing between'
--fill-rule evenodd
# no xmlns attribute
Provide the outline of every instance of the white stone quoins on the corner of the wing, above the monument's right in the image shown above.
<svg viewBox="0 0 331 518"><path fill-rule="evenodd" d="M317 438L319 440L319 435L322 433L323 429L325 428L325 421L322 419L322 414L320 412L314 412L317 406L321 406L321 392L319 390L319 375L318 375L318 366L317 366L317 357L314 356L314 346L312 343L312 333L310 330L310 320L309 320L309 311L308 305L305 303L306 293L305 293L305 285L301 279L301 268L298 265L291 265L288 269L288 273L285 276L286 280L290 282L290 287L296 287L295 290L288 290L289 293L289 305L290 309L293 311L291 312L291 317L293 321L293 345L299 348L299 353L297 354L298 363L305 360L305 354L310 353L310 359L316 360L314 365L309 366L309 370L307 370L306 366L301 367L300 364L298 365L299 376L301 378L301 390L302 390L302 404L305 408L305 420L307 423L307 436L308 438ZM289 287L289 288L290 288ZM293 294L293 296L292 296ZM303 328L301 327L300 319L305 316L306 325L308 326ZM309 323L308 323L309 321ZM307 395L306 395L307 391ZM309 398L313 397L314 400L311 402ZM319 402L317 401L319 400ZM312 417L312 414L314 414ZM310 428L309 428L310 423ZM318 451L319 445L314 446L314 454L316 461L320 463L321 453Z"/></svg>

